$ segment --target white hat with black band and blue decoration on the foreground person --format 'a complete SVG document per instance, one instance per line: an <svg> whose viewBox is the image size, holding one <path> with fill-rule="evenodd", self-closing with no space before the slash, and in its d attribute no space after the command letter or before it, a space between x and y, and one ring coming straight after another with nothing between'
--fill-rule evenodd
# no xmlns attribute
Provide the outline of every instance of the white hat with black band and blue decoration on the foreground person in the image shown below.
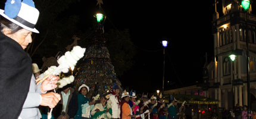
<svg viewBox="0 0 256 119"><path fill-rule="evenodd" d="M7 0L5 10L0 9L0 15L30 32L39 33L35 29L39 11L32 0Z"/></svg>

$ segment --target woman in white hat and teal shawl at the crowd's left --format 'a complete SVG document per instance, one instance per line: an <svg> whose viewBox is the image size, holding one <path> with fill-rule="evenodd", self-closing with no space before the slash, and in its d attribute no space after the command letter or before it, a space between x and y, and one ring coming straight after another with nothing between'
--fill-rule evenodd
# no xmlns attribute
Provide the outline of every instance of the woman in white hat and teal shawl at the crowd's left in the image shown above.
<svg viewBox="0 0 256 119"><path fill-rule="evenodd" d="M89 87L86 84L82 84L78 91L78 110L74 119L90 118L90 110L92 110L95 101L93 100L90 102L89 99L86 98L86 94L89 92Z"/></svg>

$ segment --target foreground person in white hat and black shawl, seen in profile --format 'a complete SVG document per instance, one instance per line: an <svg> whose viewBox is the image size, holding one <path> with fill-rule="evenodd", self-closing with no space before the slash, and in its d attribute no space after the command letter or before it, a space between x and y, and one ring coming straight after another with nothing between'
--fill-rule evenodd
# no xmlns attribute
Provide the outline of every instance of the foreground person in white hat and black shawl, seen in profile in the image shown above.
<svg viewBox="0 0 256 119"><path fill-rule="evenodd" d="M32 60L24 49L32 42L39 11L32 0L7 0L0 10L0 117L40 118L39 105L54 108L60 101L57 76L36 85ZM54 86L52 86L51 79Z"/></svg>

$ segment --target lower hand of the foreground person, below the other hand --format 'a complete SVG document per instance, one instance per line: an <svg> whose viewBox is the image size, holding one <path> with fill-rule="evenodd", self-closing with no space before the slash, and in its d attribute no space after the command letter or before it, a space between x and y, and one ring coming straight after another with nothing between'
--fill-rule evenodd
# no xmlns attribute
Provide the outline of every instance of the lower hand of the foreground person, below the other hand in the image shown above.
<svg viewBox="0 0 256 119"><path fill-rule="evenodd" d="M40 105L48 106L49 108L54 108L61 99L60 94L54 92L41 94L41 97L42 101Z"/></svg>

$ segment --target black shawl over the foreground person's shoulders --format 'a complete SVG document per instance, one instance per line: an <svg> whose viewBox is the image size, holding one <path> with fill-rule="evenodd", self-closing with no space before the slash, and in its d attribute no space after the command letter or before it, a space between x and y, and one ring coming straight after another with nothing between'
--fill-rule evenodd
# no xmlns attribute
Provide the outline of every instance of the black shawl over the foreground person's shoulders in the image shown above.
<svg viewBox="0 0 256 119"><path fill-rule="evenodd" d="M29 92L32 60L24 49L0 32L0 117L18 118Z"/></svg>

